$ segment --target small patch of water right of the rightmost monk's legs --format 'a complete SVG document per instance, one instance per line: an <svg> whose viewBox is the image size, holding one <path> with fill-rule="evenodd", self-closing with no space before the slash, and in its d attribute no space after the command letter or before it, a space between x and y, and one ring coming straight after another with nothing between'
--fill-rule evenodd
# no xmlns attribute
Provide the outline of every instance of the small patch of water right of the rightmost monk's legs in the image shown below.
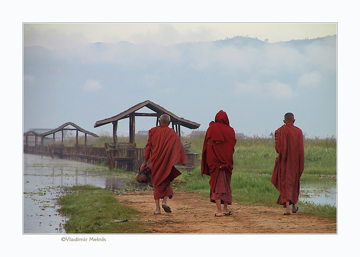
<svg viewBox="0 0 360 257"><path fill-rule="evenodd" d="M299 201L337 207L336 183L300 183Z"/></svg>

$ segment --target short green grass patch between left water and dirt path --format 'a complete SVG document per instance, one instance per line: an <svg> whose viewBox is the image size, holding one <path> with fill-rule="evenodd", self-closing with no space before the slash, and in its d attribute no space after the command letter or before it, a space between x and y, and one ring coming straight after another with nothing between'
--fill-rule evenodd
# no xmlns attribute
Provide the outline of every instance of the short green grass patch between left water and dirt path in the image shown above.
<svg viewBox="0 0 360 257"><path fill-rule="evenodd" d="M147 233L138 221L139 213L121 205L113 191L93 186L65 188L66 194L58 199L68 234L127 234Z"/></svg>

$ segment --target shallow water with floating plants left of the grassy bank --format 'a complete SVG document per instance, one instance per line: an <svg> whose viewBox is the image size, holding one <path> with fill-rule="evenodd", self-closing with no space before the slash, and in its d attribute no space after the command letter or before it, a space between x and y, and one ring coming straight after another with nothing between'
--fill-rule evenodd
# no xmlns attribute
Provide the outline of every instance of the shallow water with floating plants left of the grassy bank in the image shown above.
<svg viewBox="0 0 360 257"><path fill-rule="evenodd" d="M94 185L102 188L125 188L125 178L111 177L106 172L91 170L96 165L23 155L23 234L66 233L66 217L56 211L60 188L73 185Z"/></svg>

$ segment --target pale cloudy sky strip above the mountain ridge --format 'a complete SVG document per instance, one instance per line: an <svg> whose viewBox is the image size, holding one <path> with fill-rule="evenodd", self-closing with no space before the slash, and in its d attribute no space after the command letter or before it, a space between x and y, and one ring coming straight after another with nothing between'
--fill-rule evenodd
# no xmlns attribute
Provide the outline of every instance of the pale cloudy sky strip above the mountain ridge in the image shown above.
<svg viewBox="0 0 360 257"><path fill-rule="evenodd" d="M273 43L336 32L336 23L28 23L24 24L24 46L56 49L119 41L171 45L239 35Z"/></svg>

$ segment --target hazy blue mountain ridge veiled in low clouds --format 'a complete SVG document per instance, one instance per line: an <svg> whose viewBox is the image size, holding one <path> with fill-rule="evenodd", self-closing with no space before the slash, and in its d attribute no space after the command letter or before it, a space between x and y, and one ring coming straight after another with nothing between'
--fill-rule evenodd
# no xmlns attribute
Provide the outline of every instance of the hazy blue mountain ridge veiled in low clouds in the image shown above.
<svg viewBox="0 0 360 257"><path fill-rule="evenodd" d="M24 129L74 121L94 131L95 121L151 100L202 130L224 110L238 132L270 134L291 110L309 135L333 135L336 43L336 35L278 43L237 36L171 46L24 47Z"/></svg>

